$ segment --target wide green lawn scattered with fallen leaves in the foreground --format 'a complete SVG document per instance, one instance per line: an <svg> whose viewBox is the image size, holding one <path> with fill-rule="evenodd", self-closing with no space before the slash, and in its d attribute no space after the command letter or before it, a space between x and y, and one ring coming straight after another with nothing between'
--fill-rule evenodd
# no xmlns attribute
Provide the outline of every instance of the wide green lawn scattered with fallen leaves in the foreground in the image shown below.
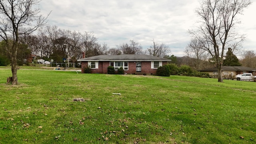
<svg viewBox="0 0 256 144"><path fill-rule="evenodd" d="M256 82L18 70L10 86L8 76L0 70L0 144L256 143Z"/></svg>

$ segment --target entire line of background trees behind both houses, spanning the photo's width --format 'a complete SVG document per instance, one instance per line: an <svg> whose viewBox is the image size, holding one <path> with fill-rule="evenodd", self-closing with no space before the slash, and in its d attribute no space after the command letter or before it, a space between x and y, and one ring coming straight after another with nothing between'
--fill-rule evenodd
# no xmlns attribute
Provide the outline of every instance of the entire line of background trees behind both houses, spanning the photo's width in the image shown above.
<svg viewBox="0 0 256 144"><path fill-rule="evenodd" d="M1 42L1 66L10 64L10 58L4 47L4 42ZM232 50L228 49L228 52L226 52L223 66L248 66L256 68L256 54L254 51L246 51L242 55L242 59L238 60ZM20 37L17 62L18 65L22 65L24 63L23 60L30 54L35 54L38 58L43 58L44 60L53 59L54 62L62 62L62 58L67 58L67 54L69 54L70 61L77 62L78 59L82 58L82 52L85 52L86 57L101 54L148 54L168 58L172 60L169 63L176 64L177 66L187 65L194 70L216 66L216 63L209 57L209 54L202 50L202 44L197 39L190 41L184 50L185 56L178 57L168 55L170 54L170 48L165 44L156 42L154 39L151 46L147 49L143 49L141 44L135 40L116 45L116 48L109 48L107 44L100 44L93 32L72 32L60 29L57 26L47 26L36 35L30 34Z"/></svg>

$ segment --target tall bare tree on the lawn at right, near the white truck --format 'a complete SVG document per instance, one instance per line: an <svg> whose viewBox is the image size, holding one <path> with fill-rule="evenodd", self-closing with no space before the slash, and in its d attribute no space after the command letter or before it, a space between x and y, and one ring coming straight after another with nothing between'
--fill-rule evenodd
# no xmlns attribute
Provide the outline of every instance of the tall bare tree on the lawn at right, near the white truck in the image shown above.
<svg viewBox="0 0 256 144"><path fill-rule="evenodd" d="M236 24L240 23L237 16L251 4L250 0L204 0L196 14L200 17L198 31L190 30L190 34L204 45L216 62L218 82L222 79L222 64L227 48L237 48L244 40L234 32Z"/></svg>

